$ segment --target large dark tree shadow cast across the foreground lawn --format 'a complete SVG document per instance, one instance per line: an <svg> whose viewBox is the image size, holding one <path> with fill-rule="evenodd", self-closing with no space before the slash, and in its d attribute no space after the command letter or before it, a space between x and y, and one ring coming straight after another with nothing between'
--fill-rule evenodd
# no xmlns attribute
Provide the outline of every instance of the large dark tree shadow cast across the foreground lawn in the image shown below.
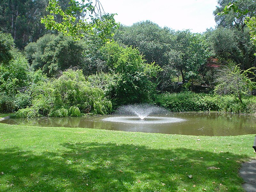
<svg viewBox="0 0 256 192"><path fill-rule="evenodd" d="M1 150L0 190L243 191L237 159L245 156L95 142L62 147L41 155L20 148Z"/></svg>

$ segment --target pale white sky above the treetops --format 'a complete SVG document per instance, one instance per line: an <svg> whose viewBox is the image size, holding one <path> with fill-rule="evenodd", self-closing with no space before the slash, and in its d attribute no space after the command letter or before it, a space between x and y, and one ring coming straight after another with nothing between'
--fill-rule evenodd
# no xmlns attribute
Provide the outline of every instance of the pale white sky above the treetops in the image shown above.
<svg viewBox="0 0 256 192"><path fill-rule="evenodd" d="M203 33L216 25L212 12L217 0L100 0L100 3L106 13L117 13L115 20L126 26L150 20L162 28Z"/></svg>

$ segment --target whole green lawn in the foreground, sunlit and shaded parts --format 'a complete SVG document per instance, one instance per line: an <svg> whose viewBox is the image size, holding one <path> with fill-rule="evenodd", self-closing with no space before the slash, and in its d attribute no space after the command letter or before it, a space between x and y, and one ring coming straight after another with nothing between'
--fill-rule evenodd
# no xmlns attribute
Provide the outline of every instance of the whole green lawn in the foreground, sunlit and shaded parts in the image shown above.
<svg viewBox="0 0 256 192"><path fill-rule="evenodd" d="M0 191L243 191L253 139L0 124Z"/></svg>

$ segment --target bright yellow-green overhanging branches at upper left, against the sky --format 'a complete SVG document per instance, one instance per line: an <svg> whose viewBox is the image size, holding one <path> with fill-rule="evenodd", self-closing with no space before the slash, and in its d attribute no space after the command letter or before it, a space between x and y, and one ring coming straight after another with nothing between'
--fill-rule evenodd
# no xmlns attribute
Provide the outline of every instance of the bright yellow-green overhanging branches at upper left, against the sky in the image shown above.
<svg viewBox="0 0 256 192"><path fill-rule="evenodd" d="M41 22L47 29L57 30L74 39L95 32L102 39L107 39L113 35L113 30L118 25L114 20L114 14L102 14L100 6L98 0L94 6L91 0L83 0L82 3L69 0L68 7L63 10L57 0L49 0L46 7L48 14L41 19Z"/></svg>

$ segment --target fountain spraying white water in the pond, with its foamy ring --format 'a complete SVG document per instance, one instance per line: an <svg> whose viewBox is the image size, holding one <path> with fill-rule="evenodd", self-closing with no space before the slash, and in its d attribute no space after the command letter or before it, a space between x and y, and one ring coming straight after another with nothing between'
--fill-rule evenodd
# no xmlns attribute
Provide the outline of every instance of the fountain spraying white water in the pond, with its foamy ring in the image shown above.
<svg viewBox="0 0 256 192"><path fill-rule="evenodd" d="M117 109L117 116L104 118L103 121L132 124L163 124L184 121L181 118L164 117L168 111L165 108L150 104L133 104ZM162 114L162 116L159 116ZM152 116L155 115L155 116Z"/></svg>

